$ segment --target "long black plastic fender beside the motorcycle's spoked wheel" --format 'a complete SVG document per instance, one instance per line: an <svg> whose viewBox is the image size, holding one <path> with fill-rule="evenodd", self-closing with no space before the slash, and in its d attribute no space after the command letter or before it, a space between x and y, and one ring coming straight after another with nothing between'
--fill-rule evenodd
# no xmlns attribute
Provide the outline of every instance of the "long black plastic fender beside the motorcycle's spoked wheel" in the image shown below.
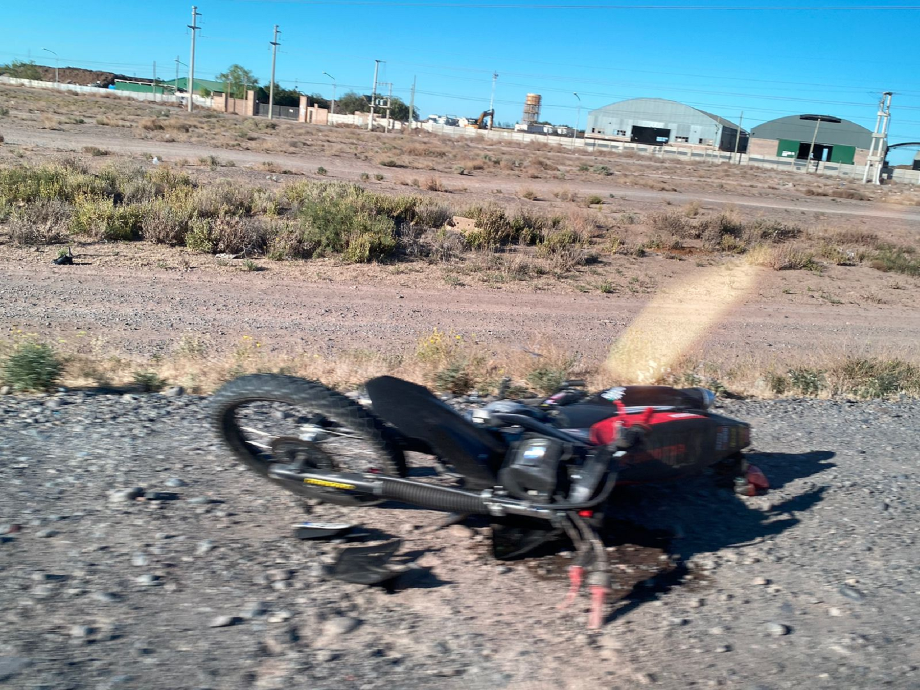
<svg viewBox="0 0 920 690"><path fill-rule="evenodd" d="M507 448L479 429L421 385L378 376L365 384L374 414L417 439L466 477L467 489L489 489L498 483L496 471Z"/></svg>

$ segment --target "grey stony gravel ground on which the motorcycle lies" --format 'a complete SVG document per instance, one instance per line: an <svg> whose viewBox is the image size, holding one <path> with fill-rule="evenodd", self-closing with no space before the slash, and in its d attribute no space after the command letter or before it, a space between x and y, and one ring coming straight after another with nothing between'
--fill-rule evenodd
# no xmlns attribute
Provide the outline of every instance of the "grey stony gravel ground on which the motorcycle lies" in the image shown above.
<svg viewBox="0 0 920 690"><path fill-rule="evenodd" d="M502 564L476 524L305 506L237 466L207 409L0 397L0 685L920 687L915 401L727 403L774 489L619 491L596 633L586 599L555 607L564 553ZM293 538L305 512L402 536L420 568L330 581L333 546Z"/></svg>

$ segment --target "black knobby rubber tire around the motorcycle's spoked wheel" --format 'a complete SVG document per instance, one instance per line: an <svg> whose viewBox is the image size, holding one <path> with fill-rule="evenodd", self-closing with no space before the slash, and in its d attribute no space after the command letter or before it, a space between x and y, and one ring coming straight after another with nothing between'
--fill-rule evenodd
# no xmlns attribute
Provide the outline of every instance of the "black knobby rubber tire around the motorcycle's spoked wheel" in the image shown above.
<svg viewBox="0 0 920 690"><path fill-rule="evenodd" d="M357 437L371 452L369 459L373 464L348 467L351 471L364 471L373 466L384 475L406 475L406 458L392 433L383 421L351 398L296 376L249 374L230 381L214 394L212 424L230 452L262 477L268 477L274 458L264 448L247 440L236 418L238 408L258 402L282 402L309 409L333 422L336 429Z"/></svg>

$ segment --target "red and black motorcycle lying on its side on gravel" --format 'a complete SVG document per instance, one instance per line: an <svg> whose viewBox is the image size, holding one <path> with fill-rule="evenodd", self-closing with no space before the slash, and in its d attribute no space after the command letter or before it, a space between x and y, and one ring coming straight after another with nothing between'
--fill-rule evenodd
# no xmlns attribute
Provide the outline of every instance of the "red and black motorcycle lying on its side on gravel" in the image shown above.
<svg viewBox="0 0 920 690"><path fill-rule="evenodd" d="M214 395L213 423L250 469L302 496L355 507L397 501L454 513L453 522L487 516L497 558L567 535L576 555L566 601L587 583L590 627L601 625L610 590L598 528L615 485L715 466L739 493L766 488L743 458L750 426L714 413L704 388L591 394L569 381L544 399L496 399L466 413L393 376L364 388L357 401L293 376L241 376ZM409 466L407 454L419 462ZM317 534L337 528L318 525Z"/></svg>

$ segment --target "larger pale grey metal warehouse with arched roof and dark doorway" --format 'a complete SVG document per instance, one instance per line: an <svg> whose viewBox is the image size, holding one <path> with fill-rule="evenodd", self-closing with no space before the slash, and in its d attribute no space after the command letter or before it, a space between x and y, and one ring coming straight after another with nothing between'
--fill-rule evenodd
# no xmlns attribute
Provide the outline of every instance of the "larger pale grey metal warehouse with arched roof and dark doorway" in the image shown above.
<svg viewBox="0 0 920 690"><path fill-rule="evenodd" d="M747 151L748 133L734 122L665 98L629 98L588 113L586 138L637 144L717 146Z"/></svg>

